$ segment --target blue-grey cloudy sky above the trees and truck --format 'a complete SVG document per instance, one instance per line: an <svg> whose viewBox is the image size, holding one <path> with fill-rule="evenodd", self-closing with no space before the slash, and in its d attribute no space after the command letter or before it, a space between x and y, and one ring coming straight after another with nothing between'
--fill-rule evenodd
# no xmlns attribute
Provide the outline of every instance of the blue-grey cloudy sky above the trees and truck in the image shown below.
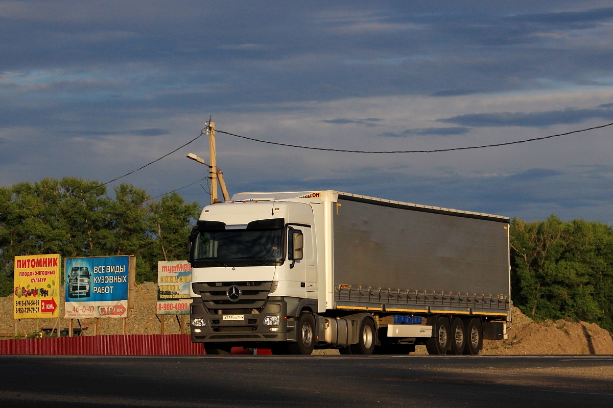
<svg viewBox="0 0 613 408"><path fill-rule="evenodd" d="M225 132L345 150L609 124L612 38L610 1L0 1L0 185L107 182L210 116ZM612 133L414 154L218 133L218 166L230 195L333 189L613 224ZM207 139L120 181L151 196L191 184L207 168L189 152L207 161ZM202 183L179 193L205 205Z"/></svg>

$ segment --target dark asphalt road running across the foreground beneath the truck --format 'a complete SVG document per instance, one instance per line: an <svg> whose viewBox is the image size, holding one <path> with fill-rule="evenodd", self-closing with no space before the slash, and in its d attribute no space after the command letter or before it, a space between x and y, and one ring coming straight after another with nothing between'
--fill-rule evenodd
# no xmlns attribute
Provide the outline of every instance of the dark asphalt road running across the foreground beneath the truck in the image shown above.
<svg viewBox="0 0 613 408"><path fill-rule="evenodd" d="M613 407L613 356L0 356L0 407Z"/></svg>

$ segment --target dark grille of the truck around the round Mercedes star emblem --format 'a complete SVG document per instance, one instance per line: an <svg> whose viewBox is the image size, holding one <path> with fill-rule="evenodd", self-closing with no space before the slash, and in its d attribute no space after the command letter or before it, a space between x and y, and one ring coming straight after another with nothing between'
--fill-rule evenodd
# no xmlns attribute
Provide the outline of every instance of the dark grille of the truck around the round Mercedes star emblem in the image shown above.
<svg viewBox="0 0 613 408"><path fill-rule="evenodd" d="M233 286L238 287L240 296L237 300L230 300L228 291ZM202 296L202 300L209 309L258 309L264 306L272 281L251 282L206 282L192 283L192 290Z"/></svg>

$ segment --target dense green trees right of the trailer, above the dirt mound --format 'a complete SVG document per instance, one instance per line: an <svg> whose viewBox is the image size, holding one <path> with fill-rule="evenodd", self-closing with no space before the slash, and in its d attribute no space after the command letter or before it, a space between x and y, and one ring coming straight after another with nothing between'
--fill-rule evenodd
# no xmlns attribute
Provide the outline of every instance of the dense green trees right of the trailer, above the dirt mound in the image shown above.
<svg viewBox="0 0 613 408"><path fill-rule="evenodd" d="M581 319L613 331L613 229L555 215L511 221L512 299L535 319Z"/></svg>

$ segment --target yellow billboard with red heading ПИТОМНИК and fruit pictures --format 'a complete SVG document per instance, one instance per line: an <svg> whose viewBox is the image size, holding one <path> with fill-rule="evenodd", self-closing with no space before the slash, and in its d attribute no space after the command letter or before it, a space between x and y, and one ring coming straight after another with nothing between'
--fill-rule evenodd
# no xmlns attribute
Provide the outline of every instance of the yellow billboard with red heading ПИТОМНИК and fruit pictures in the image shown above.
<svg viewBox="0 0 613 408"><path fill-rule="evenodd" d="M59 315L60 254L15 256L13 318Z"/></svg>

